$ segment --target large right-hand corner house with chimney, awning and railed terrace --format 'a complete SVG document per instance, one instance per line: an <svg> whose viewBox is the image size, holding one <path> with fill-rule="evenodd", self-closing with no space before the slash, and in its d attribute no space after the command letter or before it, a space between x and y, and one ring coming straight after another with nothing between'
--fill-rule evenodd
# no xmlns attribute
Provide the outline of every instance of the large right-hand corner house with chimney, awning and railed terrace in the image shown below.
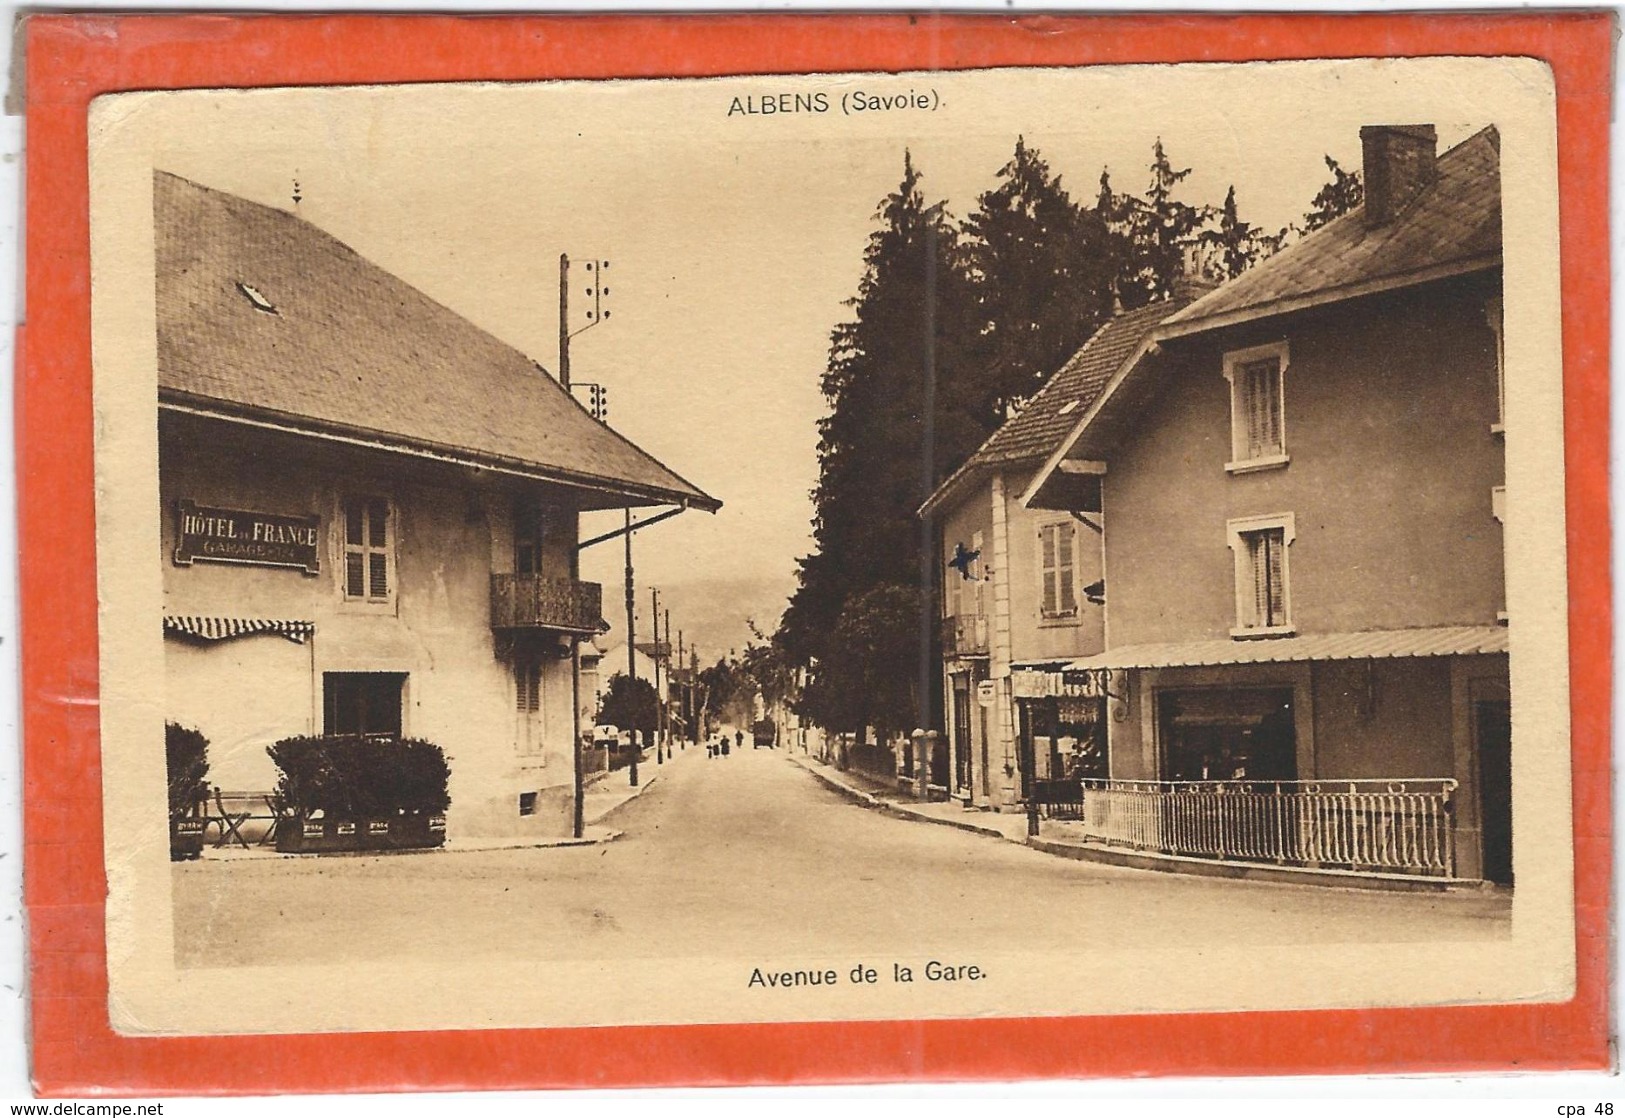
<svg viewBox="0 0 1625 1118"><path fill-rule="evenodd" d="M1102 463L1110 780L1160 853L1510 884L1500 153L1362 128L1365 205L1150 336Z"/></svg>

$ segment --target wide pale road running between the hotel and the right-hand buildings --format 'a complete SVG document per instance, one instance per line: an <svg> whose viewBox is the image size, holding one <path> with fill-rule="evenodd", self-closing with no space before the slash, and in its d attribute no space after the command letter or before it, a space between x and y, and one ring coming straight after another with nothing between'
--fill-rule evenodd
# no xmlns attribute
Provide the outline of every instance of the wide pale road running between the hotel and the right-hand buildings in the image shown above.
<svg viewBox="0 0 1625 1118"><path fill-rule="evenodd" d="M606 822L626 834L598 847L182 863L180 964L673 957L751 944L942 956L1510 931L1505 897L1180 878L895 819L782 751L689 749Z"/></svg>

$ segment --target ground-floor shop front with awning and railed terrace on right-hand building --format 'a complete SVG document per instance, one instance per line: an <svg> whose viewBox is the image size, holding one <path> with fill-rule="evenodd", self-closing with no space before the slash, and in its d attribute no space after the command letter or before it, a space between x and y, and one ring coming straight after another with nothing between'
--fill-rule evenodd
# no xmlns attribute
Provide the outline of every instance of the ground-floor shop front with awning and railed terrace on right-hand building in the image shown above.
<svg viewBox="0 0 1625 1118"><path fill-rule="evenodd" d="M1505 648L1487 626L1116 648L1016 674L1024 757L1042 814L1107 845L1511 884Z"/></svg>

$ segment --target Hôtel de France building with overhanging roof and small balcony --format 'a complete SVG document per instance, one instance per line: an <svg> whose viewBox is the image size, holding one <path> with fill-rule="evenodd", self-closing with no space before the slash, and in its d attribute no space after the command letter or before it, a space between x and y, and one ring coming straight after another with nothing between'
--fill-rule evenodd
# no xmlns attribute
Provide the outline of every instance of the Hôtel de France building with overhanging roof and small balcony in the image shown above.
<svg viewBox="0 0 1625 1118"><path fill-rule="evenodd" d="M452 837L569 834L585 510L708 497L292 213L154 179L164 717L270 790L315 733L442 746Z"/></svg>

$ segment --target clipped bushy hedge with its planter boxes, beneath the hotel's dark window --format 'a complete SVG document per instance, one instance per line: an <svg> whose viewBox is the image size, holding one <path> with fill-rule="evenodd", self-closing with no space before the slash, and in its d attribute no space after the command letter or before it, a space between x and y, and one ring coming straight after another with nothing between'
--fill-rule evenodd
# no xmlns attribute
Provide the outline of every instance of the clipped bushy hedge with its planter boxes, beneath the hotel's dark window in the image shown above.
<svg viewBox="0 0 1625 1118"><path fill-rule="evenodd" d="M414 850L445 842L450 770L429 741L330 734L270 749L284 853Z"/></svg>

